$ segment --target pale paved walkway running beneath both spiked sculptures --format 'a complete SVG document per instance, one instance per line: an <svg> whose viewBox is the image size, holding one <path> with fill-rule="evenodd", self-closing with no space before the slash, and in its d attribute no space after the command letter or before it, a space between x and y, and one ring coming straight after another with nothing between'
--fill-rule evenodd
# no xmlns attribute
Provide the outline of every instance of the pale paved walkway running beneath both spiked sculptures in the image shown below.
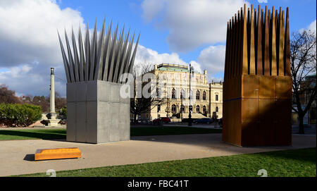
<svg viewBox="0 0 317 191"><path fill-rule="evenodd" d="M65 140L1 141L0 176L142 164L178 159L197 159L284 149L316 147L316 136L292 135L292 147L236 147L221 141L221 134L132 137L130 141L84 144ZM78 147L80 159L34 161L37 149ZM57 173L58 176L58 173Z"/></svg>

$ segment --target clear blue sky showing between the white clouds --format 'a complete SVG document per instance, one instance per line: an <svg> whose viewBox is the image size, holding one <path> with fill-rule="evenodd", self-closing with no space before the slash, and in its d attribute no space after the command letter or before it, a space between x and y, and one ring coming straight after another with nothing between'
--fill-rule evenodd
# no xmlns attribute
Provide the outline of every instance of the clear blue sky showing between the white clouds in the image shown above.
<svg viewBox="0 0 317 191"><path fill-rule="evenodd" d="M249 1L250 4L254 4L257 8L259 1L253 0ZM63 0L59 3L61 8L74 8L80 13L85 19L84 22L89 21L89 25L92 26L97 18L99 22L98 27L100 27L101 20L104 16L106 19L113 18L113 21L125 23L126 25L131 25L132 28L137 29L137 31L142 32L142 38L140 39L140 44L144 47L154 49L159 53L170 53L171 50L166 43L166 37L168 37L168 29L158 30L153 21L145 22L142 18L142 1L103 1L103 0ZM311 24L313 20L316 20L316 1L315 0L274 0L267 3L261 3L261 7L268 6L268 8L279 8L285 10L286 7L290 8L290 31L297 31ZM237 7L239 8L239 7ZM238 9L237 9L238 10ZM228 18L229 19L229 18ZM190 27L190 26L188 26ZM212 35L212 34L211 34ZM224 43L218 43L224 44ZM210 44L203 44L196 49L192 49L189 52L182 53L179 52L180 57L189 63L189 61L197 60L199 53L202 49L208 47Z"/></svg>

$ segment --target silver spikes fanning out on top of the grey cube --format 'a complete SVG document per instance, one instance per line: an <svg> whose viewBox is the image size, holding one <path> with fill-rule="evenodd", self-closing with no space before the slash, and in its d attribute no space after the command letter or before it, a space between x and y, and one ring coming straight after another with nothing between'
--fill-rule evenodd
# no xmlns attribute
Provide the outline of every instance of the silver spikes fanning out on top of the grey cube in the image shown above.
<svg viewBox="0 0 317 191"><path fill-rule="evenodd" d="M77 43L72 28L72 44L70 44L65 30L67 54L58 32L58 39L61 44L61 53L68 83L89 80L104 80L118 83L120 75L123 73L131 73L135 61L135 54L137 53L139 37L137 37L135 49L132 51L135 32L129 40L130 29L128 34L124 35L125 27L123 26L123 29L118 35L117 24L116 30L111 36L111 21L105 35L105 23L106 20L104 20L101 31L99 32L99 35L97 35L96 21L91 39L89 37L89 27L87 24L85 41L82 40L82 32L79 29Z"/></svg>

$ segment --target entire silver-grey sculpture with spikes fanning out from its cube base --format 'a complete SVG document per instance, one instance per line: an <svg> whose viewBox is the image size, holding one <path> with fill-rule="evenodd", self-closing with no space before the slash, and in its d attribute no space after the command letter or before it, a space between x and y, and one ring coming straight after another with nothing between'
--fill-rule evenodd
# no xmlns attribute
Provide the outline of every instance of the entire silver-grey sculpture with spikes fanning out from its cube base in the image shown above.
<svg viewBox="0 0 317 191"><path fill-rule="evenodd" d="M118 35L118 25L111 35L111 25L105 35L105 21L97 37L97 25L92 36L89 27L85 41L79 30L76 42L72 31L72 46L65 32L67 56L58 33L67 78L67 135L71 142L115 142L130 140L130 99L120 97L120 76L131 73L137 43L135 35ZM118 35L118 38L117 38Z"/></svg>

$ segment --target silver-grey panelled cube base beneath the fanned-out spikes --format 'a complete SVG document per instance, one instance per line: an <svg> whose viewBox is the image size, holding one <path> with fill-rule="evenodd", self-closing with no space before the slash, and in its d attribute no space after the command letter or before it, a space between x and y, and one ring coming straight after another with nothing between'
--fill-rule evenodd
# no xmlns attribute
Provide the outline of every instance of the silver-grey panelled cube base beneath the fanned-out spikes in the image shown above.
<svg viewBox="0 0 317 191"><path fill-rule="evenodd" d="M120 87L103 80L68 83L66 140L130 140L130 99L120 97Z"/></svg>

